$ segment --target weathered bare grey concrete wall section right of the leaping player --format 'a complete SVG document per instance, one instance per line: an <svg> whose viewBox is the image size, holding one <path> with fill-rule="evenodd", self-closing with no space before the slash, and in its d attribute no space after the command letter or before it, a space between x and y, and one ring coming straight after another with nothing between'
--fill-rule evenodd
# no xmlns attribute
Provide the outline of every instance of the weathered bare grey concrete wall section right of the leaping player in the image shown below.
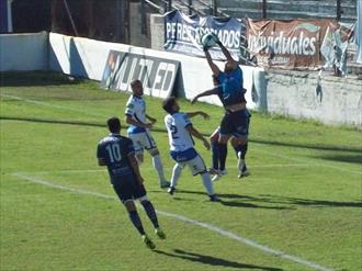
<svg viewBox="0 0 362 271"><path fill-rule="evenodd" d="M268 71L268 112L362 128L362 81L318 74Z"/></svg>

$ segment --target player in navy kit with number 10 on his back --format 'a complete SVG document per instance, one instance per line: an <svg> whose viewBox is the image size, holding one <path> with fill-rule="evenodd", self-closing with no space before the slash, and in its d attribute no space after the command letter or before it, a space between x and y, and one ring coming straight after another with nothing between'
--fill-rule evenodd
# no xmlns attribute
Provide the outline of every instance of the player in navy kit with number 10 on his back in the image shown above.
<svg viewBox="0 0 362 271"><path fill-rule="evenodd" d="M144 206L157 236L165 239L166 235L159 227L154 205L149 201L143 184L144 179L139 173L133 143L129 138L121 136L120 118L111 117L106 123L111 134L98 144L98 163L108 167L111 184L125 205L131 222L142 235L146 246L154 249L156 246L145 233L134 200L139 200Z"/></svg>

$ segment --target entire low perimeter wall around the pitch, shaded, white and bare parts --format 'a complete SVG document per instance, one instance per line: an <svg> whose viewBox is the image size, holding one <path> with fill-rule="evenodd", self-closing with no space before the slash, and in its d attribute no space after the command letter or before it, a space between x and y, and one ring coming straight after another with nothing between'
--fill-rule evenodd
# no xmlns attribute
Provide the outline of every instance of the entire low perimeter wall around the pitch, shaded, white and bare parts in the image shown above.
<svg viewBox="0 0 362 271"><path fill-rule="evenodd" d="M176 91L181 97L190 99L212 88L211 70L203 58L55 33L0 35L0 48L1 71L54 70L101 80L109 52L114 49L179 60ZM217 65L222 68L223 63ZM318 84L313 72L241 68L249 109L362 128L361 80L323 76ZM216 97L203 101L219 104Z"/></svg>

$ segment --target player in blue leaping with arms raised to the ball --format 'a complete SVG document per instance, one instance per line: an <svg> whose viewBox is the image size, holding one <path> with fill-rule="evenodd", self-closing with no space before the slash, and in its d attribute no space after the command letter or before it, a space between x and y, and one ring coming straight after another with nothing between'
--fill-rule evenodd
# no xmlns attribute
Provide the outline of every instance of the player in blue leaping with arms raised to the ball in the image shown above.
<svg viewBox="0 0 362 271"><path fill-rule="evenodd" d="M216 37L217 39L217 37ZM217 94L225 108L225 114L220 122L217 155L219 158L218 174L214 180L226 173L225 163L227 157L227 142L231 136L236 138L236 153L238 156L239 178L248 176L248 169L245 165L245 156L248 149L248 134L249 134L249 118L250 113L247 110L247 102L245 99L245 89L242 87L244 78L242 71L225 48L225 46L217 39L217 45L220 47L226 57L224 71L213 63L208 48L204 47L207 64L213 71L214 78L218 81L218 86L212 90L204 91L192 99L195 102L200 97Z"/></svg>

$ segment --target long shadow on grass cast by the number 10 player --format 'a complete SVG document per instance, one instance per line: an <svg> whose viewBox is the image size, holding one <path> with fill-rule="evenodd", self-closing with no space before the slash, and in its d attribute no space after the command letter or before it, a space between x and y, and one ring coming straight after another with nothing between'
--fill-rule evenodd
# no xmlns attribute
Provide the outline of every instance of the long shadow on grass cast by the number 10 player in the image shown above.
<svg viewBox="0 0 362 271"><path fill-rule="evenodd" d="M169 257L180 258L193 262L200 262L204 264L210 264L214 267L222 267L222 268L235 268L235 269L252 269L252 270L264 270L264 271L283 271L279 268L270 268L270 267L261 267L248 263L240 263L236 261L228 261L222 258L216 258L207 255L200 255L194 252L188 252L181 249L173 249L174 253L165 252L160 250L154 250L156 253L165 255Z"/></svg>

